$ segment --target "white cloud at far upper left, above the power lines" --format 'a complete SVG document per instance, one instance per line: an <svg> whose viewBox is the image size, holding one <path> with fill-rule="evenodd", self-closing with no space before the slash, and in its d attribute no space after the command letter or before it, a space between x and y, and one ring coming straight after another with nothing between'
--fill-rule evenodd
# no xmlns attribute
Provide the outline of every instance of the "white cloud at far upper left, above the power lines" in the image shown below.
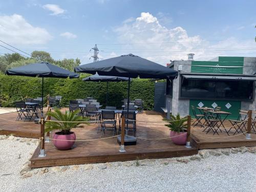
<svg viewBox="0 0 256 192"><path fill-rule="evenodd" d="M52 39L46 29L32 26L18 14L0 16L0 37L15 45L46 44Z"/></svg>

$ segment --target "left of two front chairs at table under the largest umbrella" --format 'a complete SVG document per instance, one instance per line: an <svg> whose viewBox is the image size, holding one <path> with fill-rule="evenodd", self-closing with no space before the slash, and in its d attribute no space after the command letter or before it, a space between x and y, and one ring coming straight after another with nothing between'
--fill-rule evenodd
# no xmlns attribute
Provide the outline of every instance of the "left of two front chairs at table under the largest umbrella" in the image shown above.
<svg viewBox="0 0 256 192"><path fill-rule="evenodd" d="M101 137L103 136L103 133L105 134L105 131L107 130L108 126L106 125L112 125L111 126L111 131L114 130L113 136L116 135L116 118L115 118L115 111L101 111L101 127L102 127L102 134Z"/></svg>

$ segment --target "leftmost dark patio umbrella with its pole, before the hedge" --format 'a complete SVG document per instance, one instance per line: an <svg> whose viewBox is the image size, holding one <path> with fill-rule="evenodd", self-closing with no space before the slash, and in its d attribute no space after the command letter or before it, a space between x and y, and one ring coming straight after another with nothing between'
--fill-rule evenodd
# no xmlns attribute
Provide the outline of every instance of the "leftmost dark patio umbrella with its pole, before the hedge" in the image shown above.
<svg viewBox="0 0 256 192"><path fill-rule="evenodd" d="M44 77L55 77L55 78L78 78L79 74L70 72L66 69L54 66L48 62L37 62L26 66L21 66L6 71L7 75L18 75L28 77L42 77L42 108L44 99Z"/></svg>

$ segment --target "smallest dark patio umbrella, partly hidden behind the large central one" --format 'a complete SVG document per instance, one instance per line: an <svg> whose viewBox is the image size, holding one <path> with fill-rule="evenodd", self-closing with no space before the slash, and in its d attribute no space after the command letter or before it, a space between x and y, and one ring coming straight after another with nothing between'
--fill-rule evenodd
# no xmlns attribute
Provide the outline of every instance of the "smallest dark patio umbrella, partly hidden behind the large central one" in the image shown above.
<svg viewBox="0 0 256 192"><path fill-rule="evenodd" d="M128 81L127 77L116 77L116 76L103 76L91 75L90 77L86 77L82 79L83 81L94 81L94 82L106 82L106 105L108 105L108 90L109 90L109 82L120 82L120 81Z"/></svg>

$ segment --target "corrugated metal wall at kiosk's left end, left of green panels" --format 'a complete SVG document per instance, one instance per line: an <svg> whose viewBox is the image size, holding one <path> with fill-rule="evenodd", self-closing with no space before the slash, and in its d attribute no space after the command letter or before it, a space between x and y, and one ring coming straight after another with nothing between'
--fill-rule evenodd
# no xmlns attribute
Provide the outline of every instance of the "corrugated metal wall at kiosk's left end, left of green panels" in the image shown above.
<svg viewBox="0 0 256 192"><path fill-rule="evenodd" d="M183 65L182 73L191 72L191 61L173 61L174 69L178 71L179 65ZM173 82L173 107L172 114L177 115L178 113L181 117L189 115L189 99L179 99L180 94L180 74L177 79Z"/></svg>

